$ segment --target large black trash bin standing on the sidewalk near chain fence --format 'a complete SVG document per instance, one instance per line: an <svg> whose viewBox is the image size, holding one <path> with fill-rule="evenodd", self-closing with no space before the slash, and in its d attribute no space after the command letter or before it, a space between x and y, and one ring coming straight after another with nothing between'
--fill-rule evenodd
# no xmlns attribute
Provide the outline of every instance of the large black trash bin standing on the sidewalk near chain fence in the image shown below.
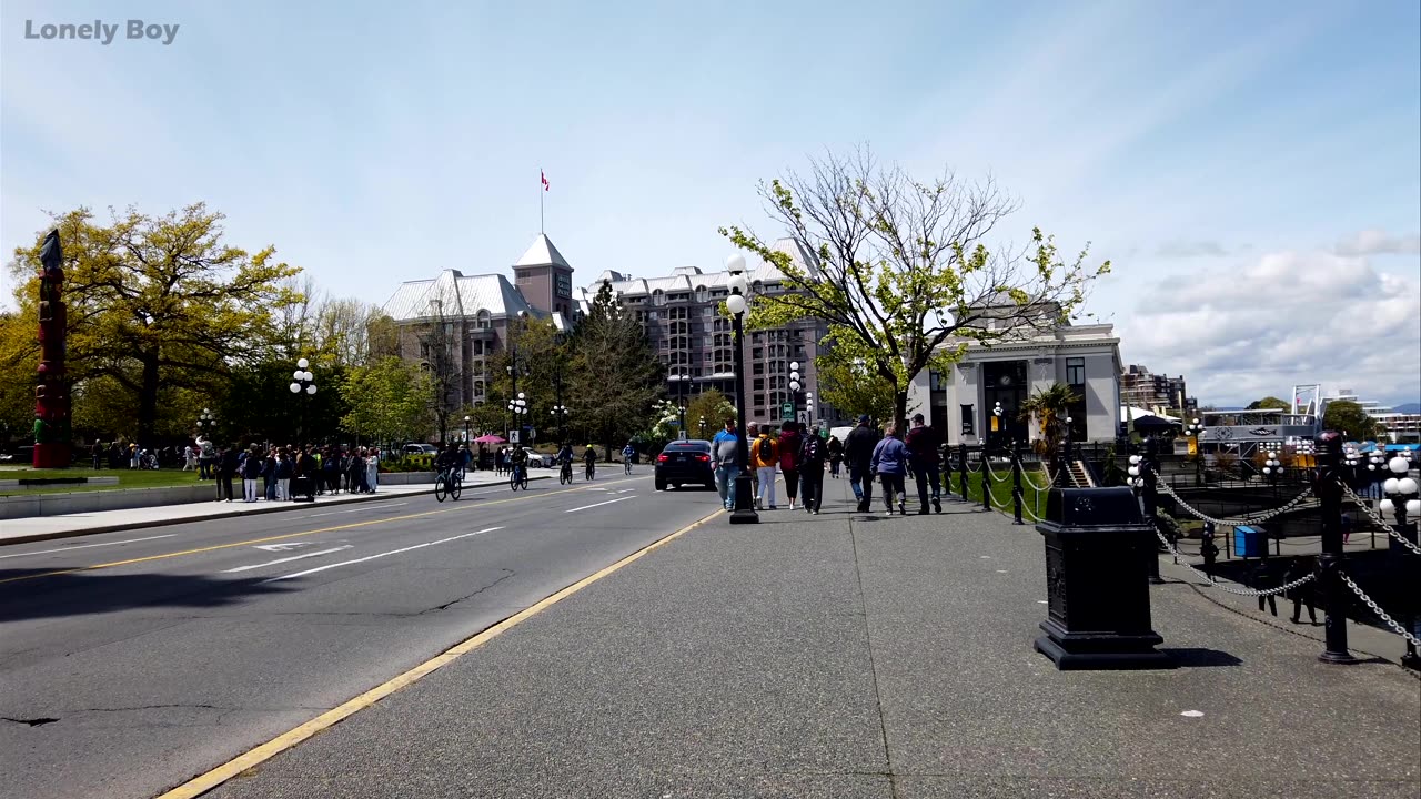
<svg viewBox="0 0 1421 799"><path fill-rule="evenodd" d="M1046 519L1047 617L1036 651L1059 670L1174 668L1154 647L1150 581L1154 527L1128 488L1052 489Z"/></svg>

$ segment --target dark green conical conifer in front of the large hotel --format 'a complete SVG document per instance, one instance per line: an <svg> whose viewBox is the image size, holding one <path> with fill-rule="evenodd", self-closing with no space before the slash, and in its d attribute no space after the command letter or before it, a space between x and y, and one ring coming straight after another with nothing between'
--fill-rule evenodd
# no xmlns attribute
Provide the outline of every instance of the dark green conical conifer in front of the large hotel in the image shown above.
<svg viewBox="0 0 1421 799"><path fill-rule="evenodd" d="M621 309L607 283L573 331L571 351L573 398L567 405L611 454L617 439L647 425L652 402L665 391L665 370L641 324Z"/></svg>

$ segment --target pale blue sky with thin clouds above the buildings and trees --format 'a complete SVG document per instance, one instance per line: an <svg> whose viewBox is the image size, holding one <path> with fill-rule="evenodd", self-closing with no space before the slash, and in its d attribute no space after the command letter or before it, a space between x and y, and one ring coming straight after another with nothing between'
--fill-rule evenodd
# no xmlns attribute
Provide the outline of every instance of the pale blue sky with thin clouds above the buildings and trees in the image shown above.
<svg viewBox="0 0 1421 799"><path fill-rule="evenodd" d="M91 20L118 36L26 37ZM712 270L719 226L776 235L759 181L860 144L993 178L993 246L1090 243L1124 363L1204 404L1421 400L1414 0L0 3L6 260L45 210L205 200L381 304L512 274L541 196L580 284Z"/></svg>

